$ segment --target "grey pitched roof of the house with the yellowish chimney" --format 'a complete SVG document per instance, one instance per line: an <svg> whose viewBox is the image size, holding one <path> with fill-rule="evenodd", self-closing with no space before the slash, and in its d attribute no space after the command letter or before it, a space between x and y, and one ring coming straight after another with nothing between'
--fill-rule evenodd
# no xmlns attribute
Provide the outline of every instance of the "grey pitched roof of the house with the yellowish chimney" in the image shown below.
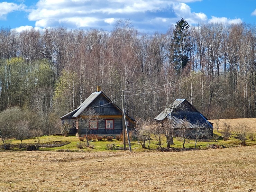
<svg viewBox="0 0 256 192"><path fill-rule="evenodd" d="M102 91L97 91L92 93L87 99L85 99L85 101L79 106L77 107L75 110L67 113L66 115L62 116L61 118L64 118L66 116L72 115L72 117L77 117L81 114L81 112L86 109L99 95L103 95L105 98L107 98L109 100L109 103L112 103L118 110L122 111L115 103L113 103L108 97L107 95L105 95ZM126 114L127 117L129 117L132 121L135 121L135 119L131 118L130 116L128 116Z"/></svg>

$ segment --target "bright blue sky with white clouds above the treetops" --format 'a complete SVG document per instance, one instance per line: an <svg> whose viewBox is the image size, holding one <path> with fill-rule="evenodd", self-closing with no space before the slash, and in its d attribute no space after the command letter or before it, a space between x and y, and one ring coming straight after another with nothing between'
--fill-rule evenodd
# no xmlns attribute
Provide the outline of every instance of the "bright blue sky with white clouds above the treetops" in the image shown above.
<svg viewBox="0 0 256 192"><path fill-rule="evenodd" d="M141 32L165 33L180 18L201 22L256 24L256 0L6 0L0 27L16 29L99 28L111 31L129 19Z"/></svg>

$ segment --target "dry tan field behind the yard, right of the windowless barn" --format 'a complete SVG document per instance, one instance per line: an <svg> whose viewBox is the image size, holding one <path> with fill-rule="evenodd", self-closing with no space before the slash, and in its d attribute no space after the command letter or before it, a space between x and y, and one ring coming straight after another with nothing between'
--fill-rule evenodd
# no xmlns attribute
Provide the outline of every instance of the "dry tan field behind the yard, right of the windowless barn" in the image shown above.
<svg viewBox="0 0 256 192"><path fill-rule="evenodd" d="M213 127L216 128L216 120L209 120L210 122L214 123ZM220 119L220 129L223 127L224 122L230 123L231 126L235 126L237 123L245 123L248 127L251 128L252 132L256 133L256 118L245 118L245 119Z"/></svg>

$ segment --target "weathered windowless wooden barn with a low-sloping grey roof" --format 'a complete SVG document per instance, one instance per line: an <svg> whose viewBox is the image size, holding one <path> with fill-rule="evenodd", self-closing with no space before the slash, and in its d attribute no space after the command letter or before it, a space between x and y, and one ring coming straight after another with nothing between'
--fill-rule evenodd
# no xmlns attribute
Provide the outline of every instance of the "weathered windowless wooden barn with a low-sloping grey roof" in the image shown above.
<svg viewBox="0 0 256 192"><path fill-rule="evenodd" d="M208 138L213 135L213 126L208 119L196 110L186 99L176 99L169 107L155 117L157 123L164 126L168 122L178 136L182 127L185 127L186 137L193 138L200 129L200 137Z"/></svg>

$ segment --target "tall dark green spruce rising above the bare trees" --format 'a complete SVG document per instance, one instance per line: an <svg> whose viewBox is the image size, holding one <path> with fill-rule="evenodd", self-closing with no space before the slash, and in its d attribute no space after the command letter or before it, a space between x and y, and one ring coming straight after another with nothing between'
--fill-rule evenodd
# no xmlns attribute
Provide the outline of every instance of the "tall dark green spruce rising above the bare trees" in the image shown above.
<svg viewBox="0 0 256 192"><path fill-rule="evenodd" d="M173 53L173 56L170 56L170 63L173 63L177 74L181 74L189 62L191 50L189 24L183 18L176 22L170 49L170 53Z"/></svg>

